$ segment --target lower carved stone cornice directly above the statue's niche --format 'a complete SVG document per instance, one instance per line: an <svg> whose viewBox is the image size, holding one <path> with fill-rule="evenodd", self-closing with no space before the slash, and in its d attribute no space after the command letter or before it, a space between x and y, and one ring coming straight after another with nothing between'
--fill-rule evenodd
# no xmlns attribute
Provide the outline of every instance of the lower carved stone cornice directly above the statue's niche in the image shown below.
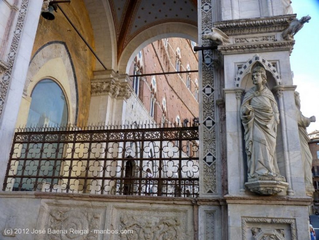
<svg viewBox="0 0 319 240"><path fill-rule="evenodd" d="M244 53L244 52L267 52L267 51L292 51L294 40L292 41L277 41L277 42L256 42L256 43L241 43L231 45L219 45L218 50L222 54Z"/></svg>

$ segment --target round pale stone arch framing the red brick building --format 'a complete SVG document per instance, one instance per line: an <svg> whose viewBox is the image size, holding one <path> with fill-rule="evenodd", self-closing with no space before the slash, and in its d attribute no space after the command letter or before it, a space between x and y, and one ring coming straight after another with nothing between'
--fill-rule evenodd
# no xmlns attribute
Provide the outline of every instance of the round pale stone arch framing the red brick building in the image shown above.
<svg viewBox="0 0 319 240"><path fill-rule="evenodd" d="M118 63L120 73L128 73L138 52L148 44L167 37L187 38L197 42L197 26L189 23L169 22L149 27L135 36L125 47Z"/></svg>

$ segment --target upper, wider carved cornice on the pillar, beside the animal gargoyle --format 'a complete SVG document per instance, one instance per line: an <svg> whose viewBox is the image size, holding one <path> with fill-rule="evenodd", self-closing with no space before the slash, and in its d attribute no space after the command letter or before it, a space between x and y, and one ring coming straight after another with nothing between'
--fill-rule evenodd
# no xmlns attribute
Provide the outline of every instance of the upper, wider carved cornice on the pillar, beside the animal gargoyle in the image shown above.
<svg viewBox="0 0 319 240"><path fill-rule="evenodd" d="M228 36L281 32L289 26L289 23L295 19L296 16L296 14L290 14L264 18L228 20L215 22L213 25Z"/></svg>

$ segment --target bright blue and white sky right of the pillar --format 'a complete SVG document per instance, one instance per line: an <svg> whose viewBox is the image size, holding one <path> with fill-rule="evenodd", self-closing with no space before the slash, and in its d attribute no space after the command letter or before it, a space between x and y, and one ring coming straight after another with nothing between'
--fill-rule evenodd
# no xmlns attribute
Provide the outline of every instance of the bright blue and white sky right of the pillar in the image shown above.
<svg viewBox="0 0 319 240"><path fill-rule="evenodd" d="M307 128L310 133L319 130L319 0L292 0L291 5L298 19L306 15L311 17L294 36L295 45L290 56L301 112L306 117L316 117L316 122Z"/></svg>

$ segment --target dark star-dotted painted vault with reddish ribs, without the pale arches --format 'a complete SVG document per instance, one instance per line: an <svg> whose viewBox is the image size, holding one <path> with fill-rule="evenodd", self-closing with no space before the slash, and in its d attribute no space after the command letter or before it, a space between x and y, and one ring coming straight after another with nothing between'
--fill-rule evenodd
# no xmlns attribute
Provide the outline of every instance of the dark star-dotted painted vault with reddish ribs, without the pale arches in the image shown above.
<svg viewBox="0 0 319 240"><path fill-rule="evenodd" d="M137 34L166 22L197 26L196 0L109 0L119 55Z"/></svg>

